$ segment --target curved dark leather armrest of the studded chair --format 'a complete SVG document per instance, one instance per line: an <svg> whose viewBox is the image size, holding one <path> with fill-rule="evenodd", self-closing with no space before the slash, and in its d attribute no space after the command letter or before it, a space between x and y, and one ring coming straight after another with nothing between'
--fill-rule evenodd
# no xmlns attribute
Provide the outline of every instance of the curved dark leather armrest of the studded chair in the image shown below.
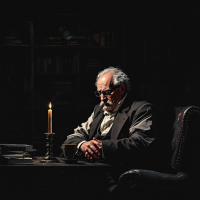
<svg viewBox="0 0 200 200"><path fill-rule="evenodd" d="M132 169L119 177L119 184L127 187L143 185L157 188L178 189L188 183L188 175L178 172L166 174L150 170Z"/></svg>

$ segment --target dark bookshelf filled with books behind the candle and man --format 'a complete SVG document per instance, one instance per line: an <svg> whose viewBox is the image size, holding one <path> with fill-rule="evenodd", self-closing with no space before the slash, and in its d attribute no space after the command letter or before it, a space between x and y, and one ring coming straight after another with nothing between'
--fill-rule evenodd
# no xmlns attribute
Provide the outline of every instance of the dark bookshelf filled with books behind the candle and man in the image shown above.
<svg viewBox="0 0 200 200"><path fill-rule="evenodd" d="M98 71L122 66L122 30L97 16L6 15L9 20L1 20L1 139L32 144L44 154L51 102L54 151L60 152L67 135L99 103L93 93Z"/></svg>

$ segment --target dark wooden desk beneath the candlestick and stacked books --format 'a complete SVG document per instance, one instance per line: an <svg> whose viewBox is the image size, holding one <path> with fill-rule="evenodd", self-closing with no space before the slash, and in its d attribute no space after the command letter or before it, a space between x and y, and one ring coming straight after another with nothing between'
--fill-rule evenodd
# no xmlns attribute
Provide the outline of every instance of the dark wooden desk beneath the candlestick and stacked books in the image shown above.
<svg viewBox="0 0 200 200"><path fill-rule="evenodd" d="M78 161L76 164L39 163L32 165L0 165L0 199L91 199L100 198L106 170L111 165ZM96 196L96 198L95 198Z"/></svg>

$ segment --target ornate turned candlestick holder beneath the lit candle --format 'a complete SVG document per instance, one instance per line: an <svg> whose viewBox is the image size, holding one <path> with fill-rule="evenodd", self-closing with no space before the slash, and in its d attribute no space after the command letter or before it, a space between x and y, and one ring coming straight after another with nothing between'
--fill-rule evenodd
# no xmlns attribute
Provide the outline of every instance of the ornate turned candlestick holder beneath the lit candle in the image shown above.
<svg viewBox="0 0 200 200"><path fill-rule="evenodd" d="M53 157L53 152L52 152L52 148L53 148L53 135L55 133L45 133L46 135L46 140L47 140L47 153L46 156L40 160L40 163L58 163L59 161Z"/></svg>

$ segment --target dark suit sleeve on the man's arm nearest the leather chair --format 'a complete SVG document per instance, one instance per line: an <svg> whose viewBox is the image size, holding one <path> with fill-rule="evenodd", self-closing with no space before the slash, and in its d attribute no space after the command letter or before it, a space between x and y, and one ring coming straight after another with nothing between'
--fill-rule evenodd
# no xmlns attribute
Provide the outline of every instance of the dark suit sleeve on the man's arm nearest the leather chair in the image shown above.
<svg viewBox="0 0 200 200"><path fill-rule="evenodd" d="M155 114L152 105L146 104L141 106L133 116L129 137L102 141L105 159L109 163L144 159L151 153L155 140L154 134Z"/></svg>

